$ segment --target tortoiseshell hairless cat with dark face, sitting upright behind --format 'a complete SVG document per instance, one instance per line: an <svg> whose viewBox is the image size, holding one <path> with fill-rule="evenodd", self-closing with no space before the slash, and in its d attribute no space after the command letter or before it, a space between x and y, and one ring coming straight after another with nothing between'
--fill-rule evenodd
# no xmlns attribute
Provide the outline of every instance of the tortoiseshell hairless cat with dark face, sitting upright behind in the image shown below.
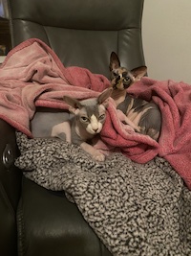
<svg viewBox="0 0 191 256"><path fill-rule="evenodd" d="M116 102L117 109L120 109L127 117L123 122L139 133L149 135L151 138L158 140L161 128L161 113L158 105L133 98L126 91L129 86L146 74L146 66L128 71L120 66L117 54L112 52L110 71L111 83L114 89L112 98Z"/></svg>

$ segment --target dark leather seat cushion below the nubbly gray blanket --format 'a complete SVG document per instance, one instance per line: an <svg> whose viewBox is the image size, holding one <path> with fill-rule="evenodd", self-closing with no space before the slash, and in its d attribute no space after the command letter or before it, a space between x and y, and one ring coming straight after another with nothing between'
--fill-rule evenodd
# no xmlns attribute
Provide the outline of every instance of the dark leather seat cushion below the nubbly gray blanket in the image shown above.
<svg viewBox="0 0 191 256"><path fill-rule="evenodd" d="M111 255L64 192L46 190L26 177L17 220L21 255Z"/></svg>

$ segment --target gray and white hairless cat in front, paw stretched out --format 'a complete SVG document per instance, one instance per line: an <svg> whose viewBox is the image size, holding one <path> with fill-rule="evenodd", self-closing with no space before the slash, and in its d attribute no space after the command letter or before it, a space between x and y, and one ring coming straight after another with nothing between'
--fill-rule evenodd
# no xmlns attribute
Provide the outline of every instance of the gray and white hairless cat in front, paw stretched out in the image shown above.
<svg viewBox="0 0 191 256"><path fill-rule="evenodd" d="M102 129L106 118L108 98L113 89L108 88L97 98L78 101L64 96L64 101L70 105L69 111L39 109L32 121L33 137L60 138L69 143L79 145L92 155L96 161L104 161L105 155L88 144Z"/></svg>

